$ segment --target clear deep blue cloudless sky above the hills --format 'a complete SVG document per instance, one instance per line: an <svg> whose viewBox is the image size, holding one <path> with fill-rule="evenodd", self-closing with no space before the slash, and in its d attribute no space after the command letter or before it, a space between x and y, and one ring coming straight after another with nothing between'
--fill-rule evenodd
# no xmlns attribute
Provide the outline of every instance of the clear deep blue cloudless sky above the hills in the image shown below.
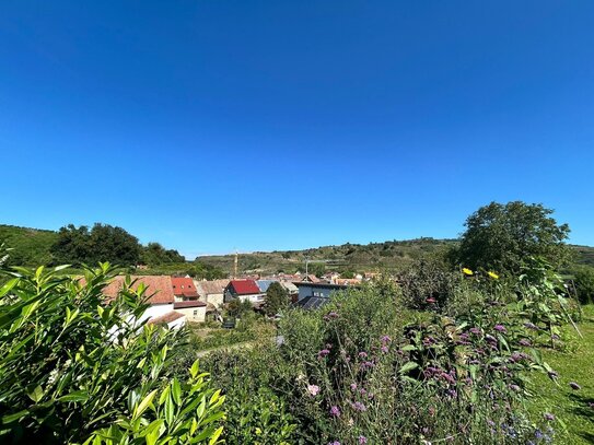
<svg viewBox="0 0 594 445"><path fill-rule="evenodd" d="M594 245L594 2L0 3L0 222L188 257L455 237L543 202Z"/></svg>

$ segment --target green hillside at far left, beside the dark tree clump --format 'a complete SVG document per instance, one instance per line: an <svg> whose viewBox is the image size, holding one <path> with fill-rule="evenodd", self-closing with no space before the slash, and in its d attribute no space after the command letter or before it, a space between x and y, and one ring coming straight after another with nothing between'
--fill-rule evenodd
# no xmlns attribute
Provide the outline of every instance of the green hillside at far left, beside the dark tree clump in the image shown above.
<svg viewBox="0 0 594 445"><path fill-rule="evenodd" d="M38 266L51 261L49 248L58 238L57 232L15 225L0 224L0 244L13 250L9 264L14 266Z"/></svg>

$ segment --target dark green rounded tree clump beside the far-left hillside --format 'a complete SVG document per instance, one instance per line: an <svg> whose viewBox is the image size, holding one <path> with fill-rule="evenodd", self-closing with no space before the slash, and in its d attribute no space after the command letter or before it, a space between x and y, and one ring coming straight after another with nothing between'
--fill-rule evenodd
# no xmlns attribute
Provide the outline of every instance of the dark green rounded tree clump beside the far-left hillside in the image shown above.
<svg viewBox="0 0 594 445"><path fill-rule="evenodd" d="M96 223L89 230L85 225L70 224L58 232L51 254L58 264L80 266L109 261L133 266L140 261L142 246L121 227Z"/></svg>

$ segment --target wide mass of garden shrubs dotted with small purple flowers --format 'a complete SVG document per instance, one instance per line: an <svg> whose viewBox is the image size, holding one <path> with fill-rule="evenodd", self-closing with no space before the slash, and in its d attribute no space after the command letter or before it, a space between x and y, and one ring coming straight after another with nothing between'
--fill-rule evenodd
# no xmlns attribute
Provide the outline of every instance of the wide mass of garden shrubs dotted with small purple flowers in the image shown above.
<svg viewBox="0 0 594 445"><path fill-rule="evenodd" d="M465 270L440 304L420 292L422 312L389 281L337 294L318 311L292 309L280 320L280 348L217 353L203 363L230 400L223 437L550 442L560 423L549 413L531 418L525 405L532 372L557 378L535 349L551 338L560 344L551 326L569 320L564 289L549 285L554 278L536 271L503 283L497 273ZM554 320L549 311L566 315Z"/></svg>

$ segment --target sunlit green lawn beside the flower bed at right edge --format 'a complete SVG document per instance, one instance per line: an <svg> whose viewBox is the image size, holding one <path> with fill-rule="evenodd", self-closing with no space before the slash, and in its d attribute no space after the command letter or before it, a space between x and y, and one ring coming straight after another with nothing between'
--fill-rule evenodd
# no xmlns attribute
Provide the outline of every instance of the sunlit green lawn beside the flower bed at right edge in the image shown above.
<svg viewBox="0 0 594 445"><path fill-rule="evenodd" d="M531 412L540 417L551 412L567 425L567 433L557 428L556 443L579 445L594 443L594 306L584 308L580 324L584 339L576 338L575 351L543 351L543 359L559 373L559 385L552 384L546 375L537 375L533 382L535 394ZM569 383L575 382L582 388L573 390Z"/></svg>

